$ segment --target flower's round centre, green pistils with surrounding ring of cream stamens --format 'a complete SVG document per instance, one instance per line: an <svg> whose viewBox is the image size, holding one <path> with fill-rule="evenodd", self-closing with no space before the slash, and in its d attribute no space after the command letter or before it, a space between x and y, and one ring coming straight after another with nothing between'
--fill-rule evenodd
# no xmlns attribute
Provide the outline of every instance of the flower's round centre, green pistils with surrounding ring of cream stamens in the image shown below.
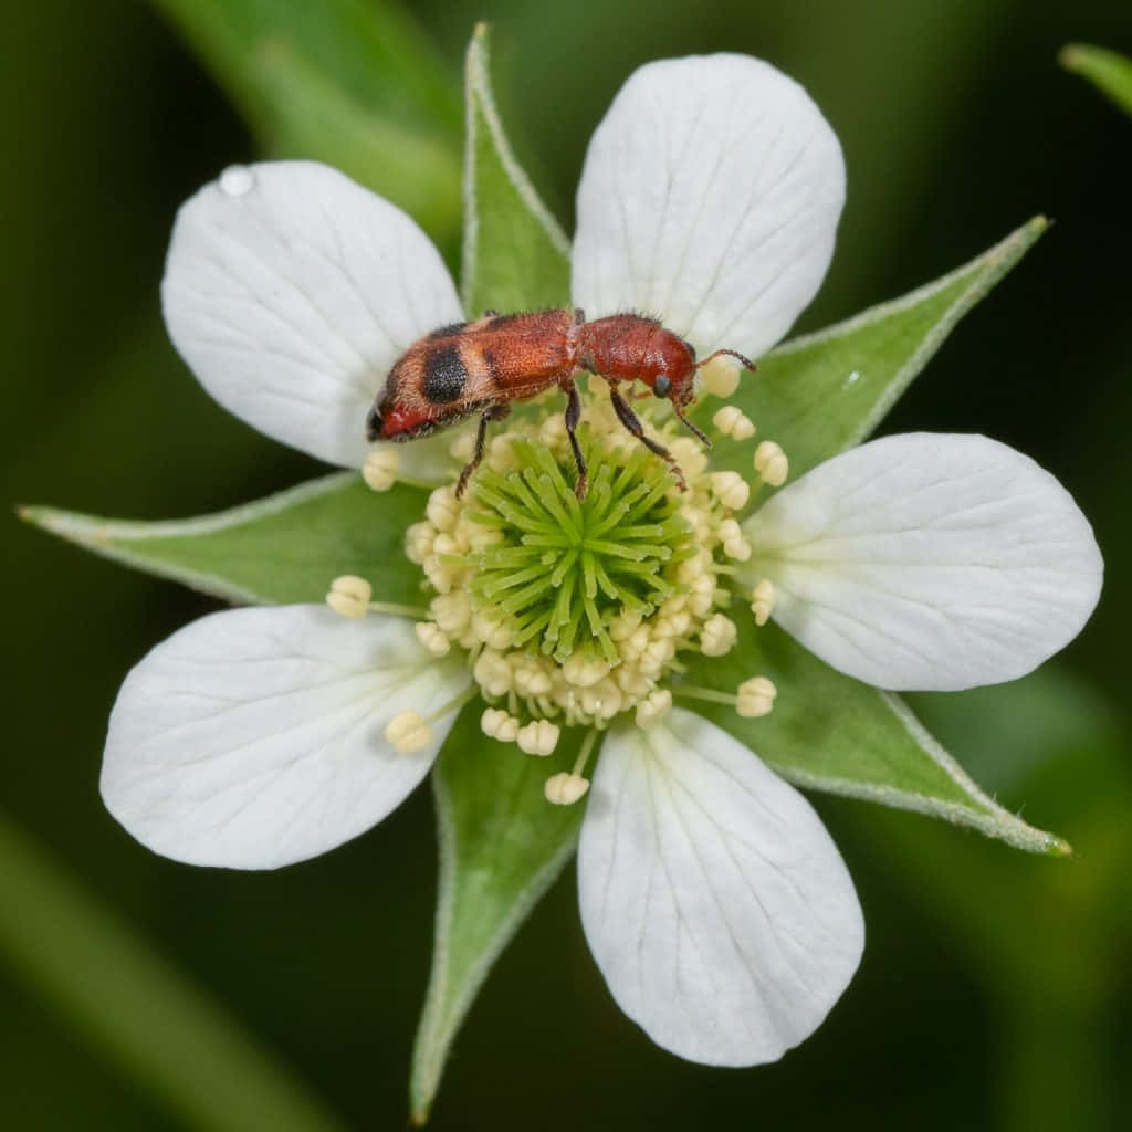
<svg viewBox="0 0 1132 1132"><path fill-rule="evenodd" d="M730 517L746 486L711 474L695 440L661 431L687 480L679 491L606 398L585 420L584 500L561 417L520 421L492 439L465 498L434 491L408 538L436 593L432 620L418 626L422 643L437 655L469 650L484 698L498 705L486 726L534 752L557 738L534 722L602 728L633 709L652 719L681 650L726 652L735 626L719 612L730 593L717 551L749 554ZM521 727L522 717L533 722Z"/></svg>

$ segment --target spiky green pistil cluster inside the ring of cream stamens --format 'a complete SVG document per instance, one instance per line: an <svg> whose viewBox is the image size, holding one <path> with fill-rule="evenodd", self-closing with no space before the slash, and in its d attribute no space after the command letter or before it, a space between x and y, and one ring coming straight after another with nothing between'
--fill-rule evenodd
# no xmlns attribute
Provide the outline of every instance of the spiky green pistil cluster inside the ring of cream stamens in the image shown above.
<svg viewBox="0 0 1132 1132"><path fill-rule="evenodd" d="M473 607L497 614L513 648L616 664L610 624L626 610L646 619L676 592L692 531L667 465L644 447L615 464L588 436L582 444L594 472L581 501L573 464L528 439L511 440L514 470L478 472L468 518L497 541L471 555L468 591Z"/></svg>

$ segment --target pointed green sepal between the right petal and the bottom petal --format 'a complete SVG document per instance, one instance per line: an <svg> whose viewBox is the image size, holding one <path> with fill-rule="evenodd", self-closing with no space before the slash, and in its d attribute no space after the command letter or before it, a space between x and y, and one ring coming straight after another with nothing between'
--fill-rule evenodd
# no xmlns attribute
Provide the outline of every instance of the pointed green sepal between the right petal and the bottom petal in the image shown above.
<svg viewBox="0 0 1132 1132"><path fill-rule="evenodd" d="M737 623L735 649L692 678L734 693L743 680L767 676L778 688L774 710L761 719L743 719L723 703L694 706L783 778L941 817L1029 852L1070 851L1065 842L1027 825L984 794L900 697L834 671L773 624L757 628L749 617Z"/></svg>

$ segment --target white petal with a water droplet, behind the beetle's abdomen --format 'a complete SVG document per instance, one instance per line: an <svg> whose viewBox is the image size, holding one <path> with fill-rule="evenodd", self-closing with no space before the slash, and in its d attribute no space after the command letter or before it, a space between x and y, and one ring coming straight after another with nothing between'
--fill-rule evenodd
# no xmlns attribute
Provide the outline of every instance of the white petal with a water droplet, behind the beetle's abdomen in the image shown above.
<svg viewBox="0 0 1132 1132"><path fill-rule="evenodd" d="M200 384L267 436L346 466L404 350L463 316L428 237L326 165L226 170L177 216L162 302Z"/></svg>

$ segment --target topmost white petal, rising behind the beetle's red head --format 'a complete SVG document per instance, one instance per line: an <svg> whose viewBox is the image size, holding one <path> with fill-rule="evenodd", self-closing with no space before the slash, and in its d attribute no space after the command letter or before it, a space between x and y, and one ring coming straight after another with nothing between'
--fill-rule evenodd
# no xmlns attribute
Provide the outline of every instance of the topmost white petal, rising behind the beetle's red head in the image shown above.
<svg viewBox="0 0 1132 1132"><path fill-rule="evenodd" d="M757 357L817 291L843 201L841 147L792 79L747 55L649 63L590 142L574 302Z"/></svg>

